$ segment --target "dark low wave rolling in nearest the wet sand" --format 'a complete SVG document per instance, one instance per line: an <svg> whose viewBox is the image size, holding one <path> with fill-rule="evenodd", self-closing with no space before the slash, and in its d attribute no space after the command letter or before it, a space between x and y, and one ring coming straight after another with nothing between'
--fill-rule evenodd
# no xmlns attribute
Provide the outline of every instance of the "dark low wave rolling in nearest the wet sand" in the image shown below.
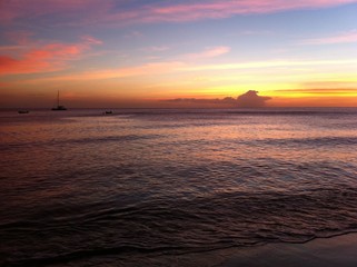
<svg viewBox="0 0 357 267"><path fill-rule="evenodd" d="M289 194L229 192L195 200L155 199L128 207L120 206L120 197L113 201L78 207L71 204L61 209L49 206L26 221L0 225L3 245L12 244L18 249L8 258L10 266L52 264L89 255L304 243L357 229L357 191L346 187Z"/></svg>

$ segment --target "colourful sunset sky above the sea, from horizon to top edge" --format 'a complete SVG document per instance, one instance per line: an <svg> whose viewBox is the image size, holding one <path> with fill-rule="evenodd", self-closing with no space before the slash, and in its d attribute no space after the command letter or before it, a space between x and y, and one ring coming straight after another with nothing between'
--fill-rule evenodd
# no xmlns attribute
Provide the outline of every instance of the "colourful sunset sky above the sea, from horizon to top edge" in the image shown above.
<svg viewBox="0 0 357 267"><path fill-rule="evenodd" d="M357 0L0 0L0 108L357 107L356 18Z"/></svg>

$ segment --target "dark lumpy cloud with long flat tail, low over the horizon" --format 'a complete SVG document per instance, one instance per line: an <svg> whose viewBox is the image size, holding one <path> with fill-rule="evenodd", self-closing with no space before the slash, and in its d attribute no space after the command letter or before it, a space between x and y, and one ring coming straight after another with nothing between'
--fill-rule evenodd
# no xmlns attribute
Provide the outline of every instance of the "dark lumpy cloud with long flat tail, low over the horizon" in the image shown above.
<svg viewBox="0 0 357 267"><path fill-rule="evenodd" d="M238 98L226 97L222 99L204 99L204 98L175 98L162 100L165 102L172 103L212 103L212 105L224 105L239 108L260 108L266 106L266 101L271 99L270 97L260 97L258 91L249 90Z"/></svg>

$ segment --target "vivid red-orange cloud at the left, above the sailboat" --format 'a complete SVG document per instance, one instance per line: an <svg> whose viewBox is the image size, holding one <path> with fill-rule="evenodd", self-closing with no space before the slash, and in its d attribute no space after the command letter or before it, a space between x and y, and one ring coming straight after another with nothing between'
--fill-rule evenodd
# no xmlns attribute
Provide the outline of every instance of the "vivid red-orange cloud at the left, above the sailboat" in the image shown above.
<svg viewBox="0 0 357 267"><path fill-rule="evenodd" d="M21 47L18 51L21 53L20 58L0 55L0 76L61 70L67 67L68 61L79 59L92 44L100 43L100 40L86 36L80 43L49 43L31 48L26 52ZM2 51L1 47L0 51Z"/></svg>

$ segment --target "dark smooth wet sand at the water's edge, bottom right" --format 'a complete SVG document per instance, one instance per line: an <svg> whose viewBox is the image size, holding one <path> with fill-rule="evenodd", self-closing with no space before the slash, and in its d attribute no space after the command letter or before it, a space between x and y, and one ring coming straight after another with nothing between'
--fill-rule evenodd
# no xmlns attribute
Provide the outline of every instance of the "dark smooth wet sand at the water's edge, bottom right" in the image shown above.
<svg viewBox="0 0 357 267"><path fill-rule="evenodd" d="M1 264L0 264L1 266ZM56 265L58 266L58 265ZM62 267L356 267L357 234L317 238L305 244L267 244L181 255L142 255L118 258L115 255L73 260Z"/></svg>

